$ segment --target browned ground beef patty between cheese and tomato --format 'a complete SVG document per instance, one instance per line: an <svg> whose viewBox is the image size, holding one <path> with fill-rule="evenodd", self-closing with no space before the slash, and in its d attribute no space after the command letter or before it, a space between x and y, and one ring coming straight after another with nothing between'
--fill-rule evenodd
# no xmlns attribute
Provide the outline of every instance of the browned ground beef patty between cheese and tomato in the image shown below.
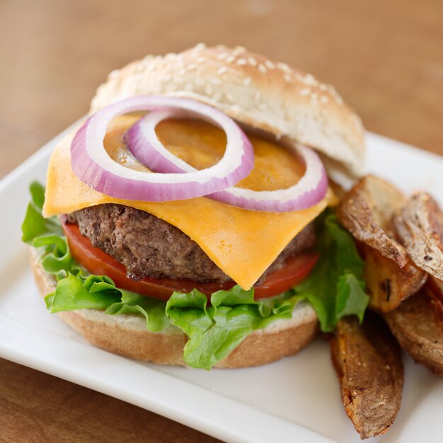
<svg viewBox="0 0 443 443"><path fill-rule="evenodd" d="M113 203L88 207L69 214L93 246L125 265L127 277L186 278L196 282L231 280L189 236L148 212ZM312 248L313 224L303 229L267 272L284 267L287 258ZM260 280L263 279L263 276Z"/></svg>

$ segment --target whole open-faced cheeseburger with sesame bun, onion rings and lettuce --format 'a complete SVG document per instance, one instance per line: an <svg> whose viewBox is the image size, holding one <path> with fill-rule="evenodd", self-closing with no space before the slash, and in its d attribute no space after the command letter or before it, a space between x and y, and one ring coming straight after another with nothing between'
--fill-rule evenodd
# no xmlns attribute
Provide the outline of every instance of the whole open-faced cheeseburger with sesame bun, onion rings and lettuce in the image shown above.
<svg viewBox="0 0 443 443"><path fill-rule="evenodd" d="M47 309L157 364L293 355L367 306L328 180L363 158L334 88L243 47L113 71L30 187L23 241Z"/></svg>

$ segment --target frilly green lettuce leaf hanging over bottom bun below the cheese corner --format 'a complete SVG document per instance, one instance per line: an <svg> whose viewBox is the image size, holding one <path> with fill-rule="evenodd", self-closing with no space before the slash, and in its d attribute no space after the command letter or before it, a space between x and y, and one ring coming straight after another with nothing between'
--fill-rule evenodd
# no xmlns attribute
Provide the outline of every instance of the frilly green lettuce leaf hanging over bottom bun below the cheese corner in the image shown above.
<svg viewBox="0 0 443 443"><path fill-rule="evenodd" d="M210 369L224 359L254 330L265 328L278 318L291 318L298 297L285 295L254 300L254 290L235 286L207 297L194 289L188 294L174 292L166 313L175 326L188 335L183 359L189 366ZM282 309L282 302L286 302Z"/></svg>

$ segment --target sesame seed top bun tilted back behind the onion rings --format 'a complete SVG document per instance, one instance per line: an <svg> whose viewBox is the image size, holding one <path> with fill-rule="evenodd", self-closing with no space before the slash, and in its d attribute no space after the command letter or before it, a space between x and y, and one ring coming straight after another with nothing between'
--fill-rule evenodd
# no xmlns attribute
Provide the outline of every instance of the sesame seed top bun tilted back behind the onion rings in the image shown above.
<svg viewBox="0 0 443 443"><path fill-rule="evenodd" d="M328 172L362 173L362 123L335 89L243 47L200 44L180 54L132 62L109 74L91 112L140 95L200 100L244 125L312 146Z"/></svg>

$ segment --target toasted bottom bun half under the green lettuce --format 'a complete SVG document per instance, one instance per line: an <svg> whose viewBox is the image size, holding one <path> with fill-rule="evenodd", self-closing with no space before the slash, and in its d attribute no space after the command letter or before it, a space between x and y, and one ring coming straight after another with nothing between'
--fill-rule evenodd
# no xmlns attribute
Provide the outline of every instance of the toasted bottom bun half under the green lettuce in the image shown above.
<svg viewBox="0 0 443 443"><path fill-rule="evenodd" d="M40 293L54 292L56 280L43 270L38 254L30 248L30 263ZM126 314L110 316L96 309L57 313L59 318L81 334L89 343L115 354L153 362L186 366L183 347L187 336L176 326L152 333L144 318ZM215 367L239 368L259 366L293 355L316 335L317 316L309 304L299 303L292 318L277 320L265 329L246 337Z"/></svg>

